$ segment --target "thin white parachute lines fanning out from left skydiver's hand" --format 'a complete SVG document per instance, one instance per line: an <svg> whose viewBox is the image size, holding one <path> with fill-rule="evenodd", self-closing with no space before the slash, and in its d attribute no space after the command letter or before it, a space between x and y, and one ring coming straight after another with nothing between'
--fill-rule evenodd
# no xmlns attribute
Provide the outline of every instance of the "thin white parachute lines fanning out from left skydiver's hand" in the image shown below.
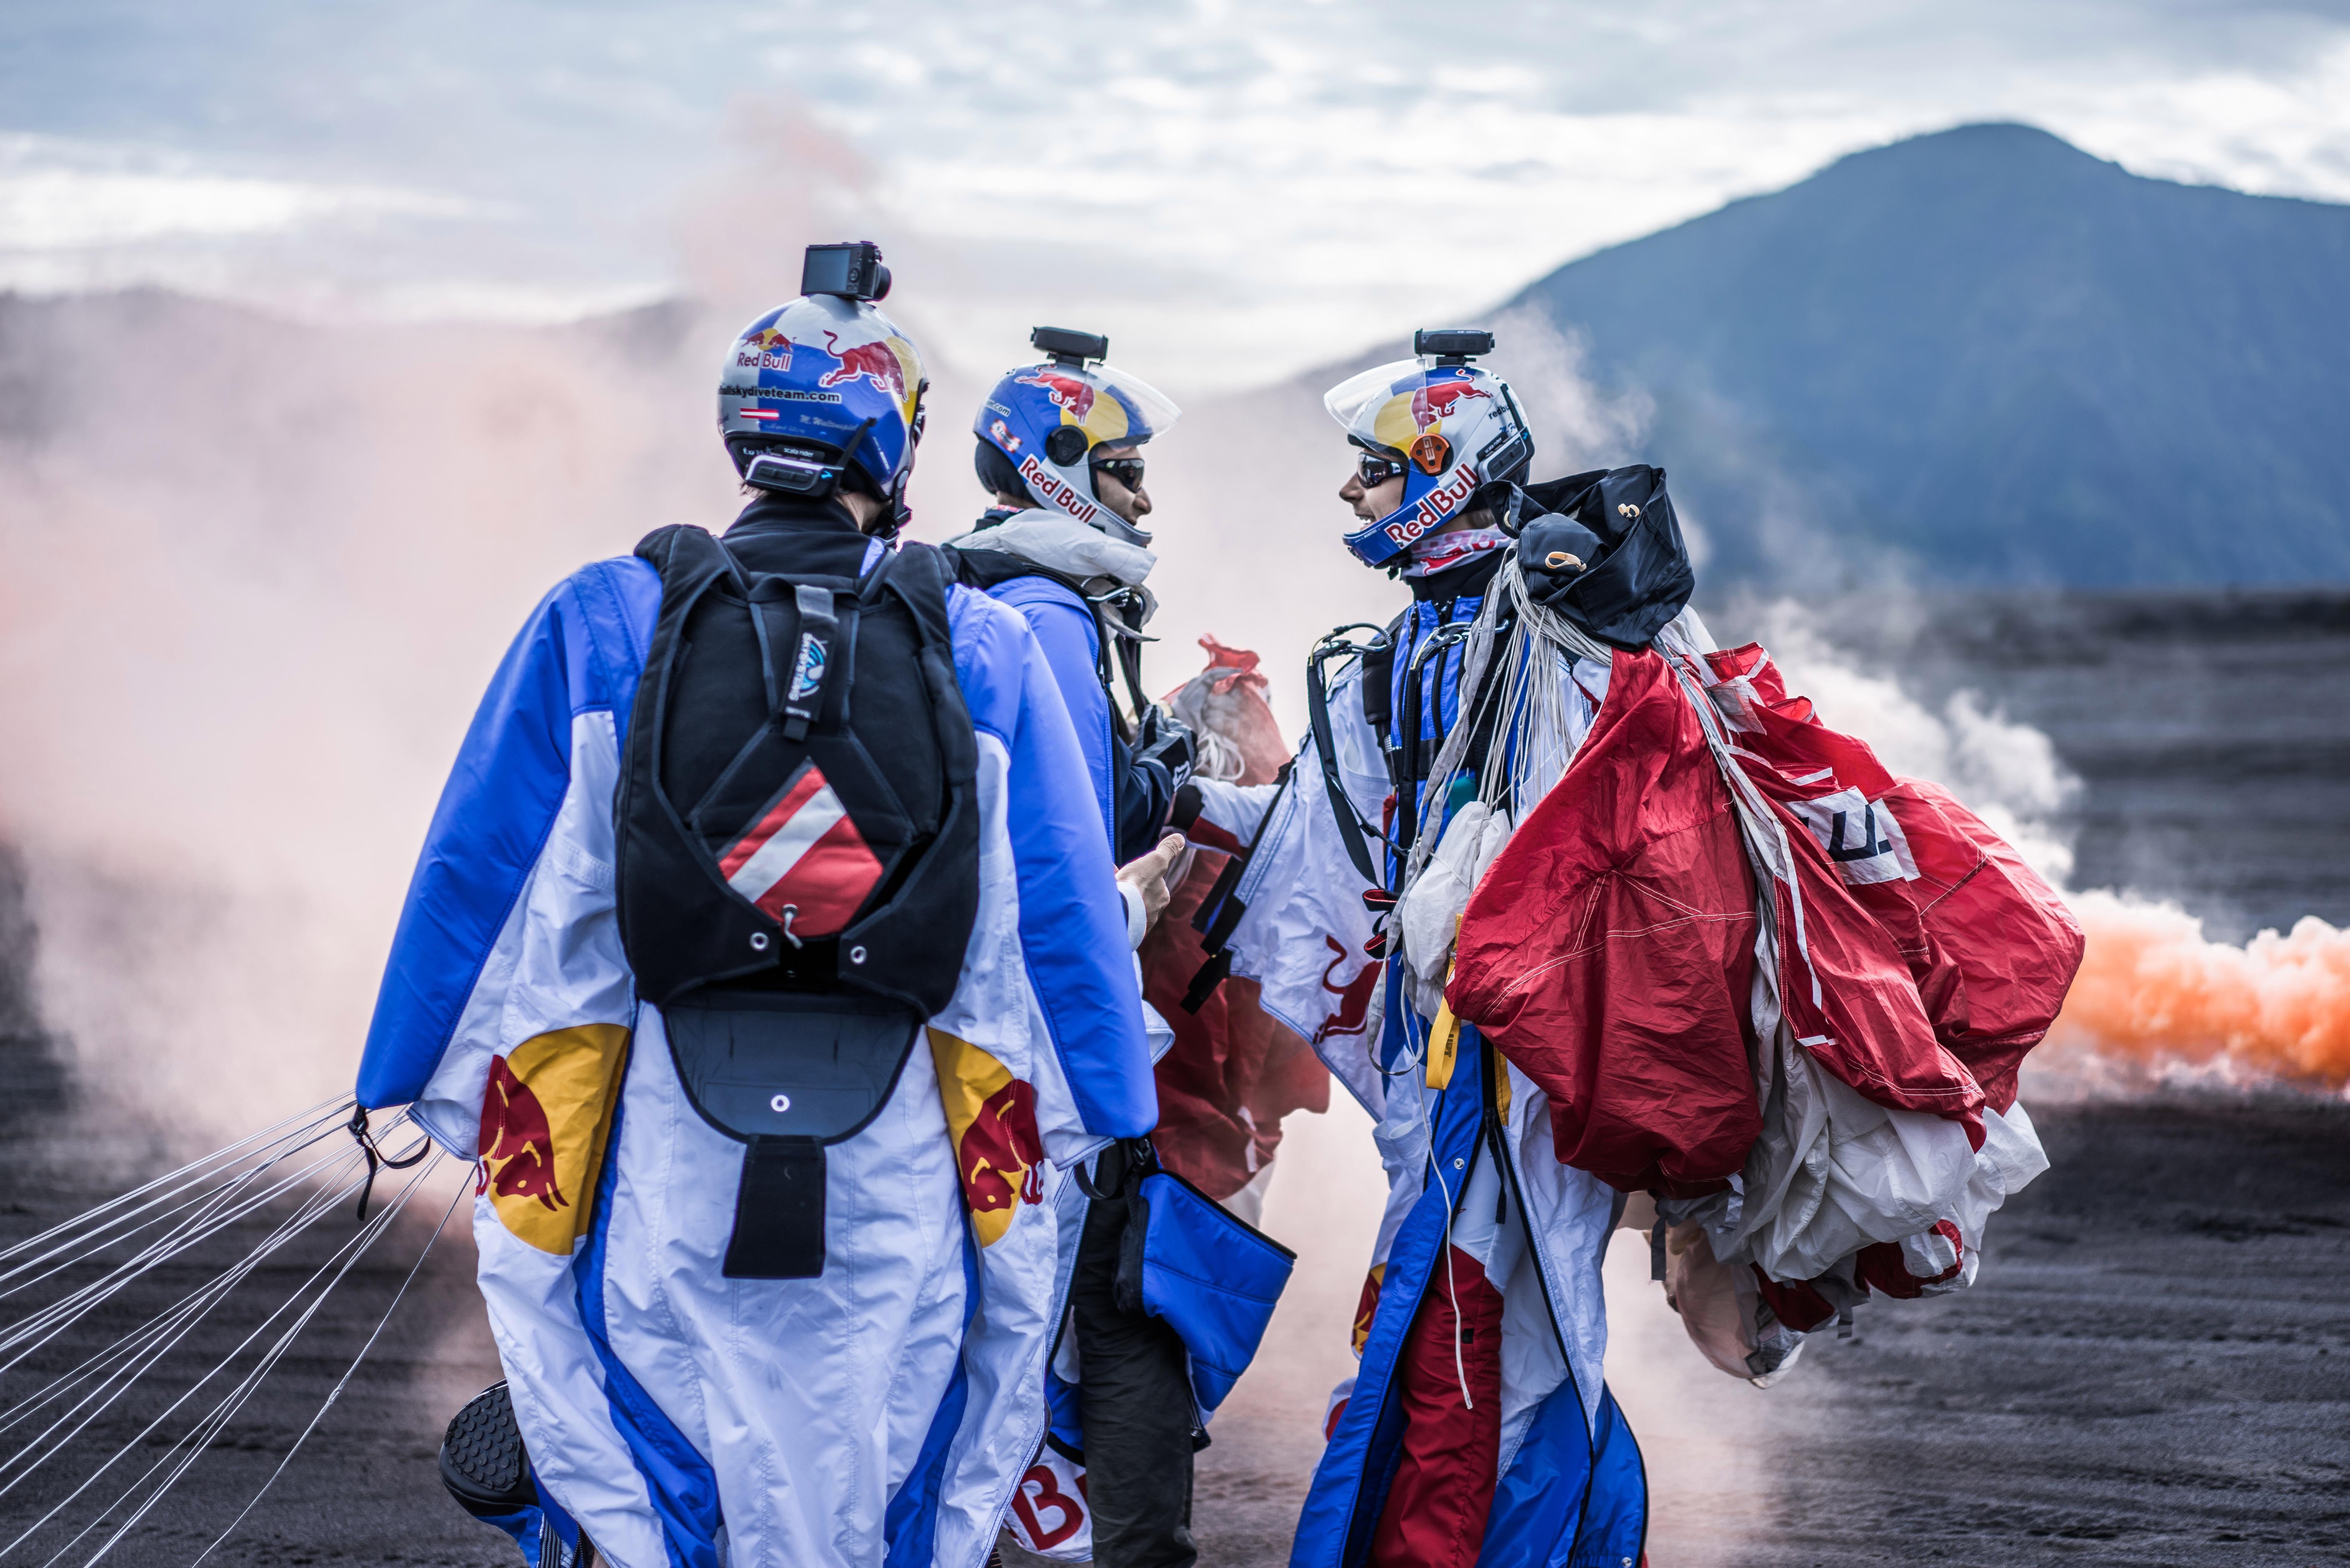
<svg viewBox="0 0 2350 1568"><path fill-rule="evenodd" d="M400 1121L385 1128L395 1131L404 1131ZM228 1443L237 1415L296 1342L303 1359L341 1359L345 1347L315 1345L320 1312L400 1227L439 1166L421 1138L381 1152L352 1119L350 1100L327 1103L0 1251L0 1302L24 1305L0 1328L0 1500L47 1505L0 1530L0 1561L99 1563L141 1530L207 1450ZM383 1168L397 1182L383 1182L383 1201L367 1208ZM456 1199L291 1448L190 1563L235 1535L301 1453L454 1208ZM115 1328L122 1305L153 1298L160 1281L190 1269L202 1269L195 1288ZM282 1284L289 1274L291 1288ZM237 1338L216 1354L223 1335ZM38 1490L28 1486L35 1476ZM186 1528L176 1516L169 1533Z"/></svg>

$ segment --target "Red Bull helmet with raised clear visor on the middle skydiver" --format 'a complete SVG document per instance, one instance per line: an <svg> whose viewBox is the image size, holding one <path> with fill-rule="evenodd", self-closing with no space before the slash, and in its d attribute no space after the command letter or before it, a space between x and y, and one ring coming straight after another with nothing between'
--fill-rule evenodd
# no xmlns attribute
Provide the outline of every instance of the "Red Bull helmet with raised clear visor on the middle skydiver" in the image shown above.
<svg viewBox="0 0 2350 1568"><path fill-rule="evenodd" d="M1050 357L1006 371L980 402L971 430L1006 456L1039 505L1130 545L1152 543L1147 531L1102 505L1093 489L1093 451L1166 435L1182 409L1149 383L1102 364L1109 339L1039 327L1029 341Z"/></svg>

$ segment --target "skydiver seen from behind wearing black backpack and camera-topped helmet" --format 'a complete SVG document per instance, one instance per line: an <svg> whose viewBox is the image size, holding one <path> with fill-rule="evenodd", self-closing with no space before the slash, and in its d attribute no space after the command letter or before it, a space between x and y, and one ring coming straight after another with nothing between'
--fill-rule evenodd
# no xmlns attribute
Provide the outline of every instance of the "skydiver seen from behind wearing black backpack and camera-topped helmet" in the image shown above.
<svg viewBox="0 0 2350 1568"><path fill-rule="evenodd" d="M726 350L745 510L508 651L360 1070L482 1161L508 1380L442 1469L545 1568L975 1568L1046 1432L1062 1190L1154 1124L1163 865L1121 898L1029 623L895 543L926 378L879 252L801 287Z"/></svg>

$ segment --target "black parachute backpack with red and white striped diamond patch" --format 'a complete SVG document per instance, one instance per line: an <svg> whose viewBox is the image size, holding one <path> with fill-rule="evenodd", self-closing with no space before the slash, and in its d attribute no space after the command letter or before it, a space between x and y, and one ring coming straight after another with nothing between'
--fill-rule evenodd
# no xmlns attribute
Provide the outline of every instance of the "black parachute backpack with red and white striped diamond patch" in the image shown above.
<svg viewBox="0 0 2350 1568"><path fill-rule="evenodd" d="M834 508L649 534L660 618L616 802L620 945L705 1121L750 1143L726 1274L822 1269L822 1145L888 1100L980 900L952 567L858 578Z"/></svg>

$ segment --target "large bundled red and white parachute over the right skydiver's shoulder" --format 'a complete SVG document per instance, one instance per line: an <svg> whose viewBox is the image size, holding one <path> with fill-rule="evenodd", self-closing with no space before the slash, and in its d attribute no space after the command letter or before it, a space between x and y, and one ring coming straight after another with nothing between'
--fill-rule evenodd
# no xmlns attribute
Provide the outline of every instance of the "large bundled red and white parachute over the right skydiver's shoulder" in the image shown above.
<svg viewBox="0 0 2350 1568"><path fill-rule="evenodd" d="M1452 1011L1551 1095L1563 1161L1704 1229L1692 1279L1753 1267L1762 1319L1969 1284L1988 1213L2047 1168L2014 1081L2080 961L2063 903L1760 649L1607 649L1516 562L1502 597L1504 672L1612 670L1565 788L1464 907ZM1492 748L1488 792L1542 750L1509 726Z"/></svg>

